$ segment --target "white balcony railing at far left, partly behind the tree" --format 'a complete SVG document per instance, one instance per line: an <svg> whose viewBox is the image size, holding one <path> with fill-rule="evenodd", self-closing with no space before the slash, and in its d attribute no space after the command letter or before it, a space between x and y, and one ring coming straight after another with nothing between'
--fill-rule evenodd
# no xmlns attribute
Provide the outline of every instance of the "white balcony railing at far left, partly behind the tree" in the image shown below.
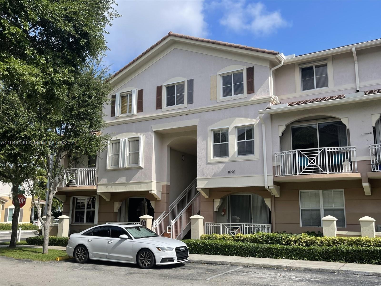
<svg viewBox="0 0 381 286"><path fill-rule="evenodd" d="M98 168L66 169L58 187L96 186L98 183Z"/></svg>

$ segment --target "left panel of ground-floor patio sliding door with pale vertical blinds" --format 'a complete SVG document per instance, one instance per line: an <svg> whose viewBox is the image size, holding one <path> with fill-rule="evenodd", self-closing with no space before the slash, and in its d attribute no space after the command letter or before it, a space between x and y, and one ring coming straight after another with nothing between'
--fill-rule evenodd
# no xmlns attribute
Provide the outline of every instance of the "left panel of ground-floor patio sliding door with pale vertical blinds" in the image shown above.
<svg viewBox="0 0 381 286"><path fill-rule="evenodd" d="M230 222L251 223L251 194L235 194L230 196Z"/></svg>

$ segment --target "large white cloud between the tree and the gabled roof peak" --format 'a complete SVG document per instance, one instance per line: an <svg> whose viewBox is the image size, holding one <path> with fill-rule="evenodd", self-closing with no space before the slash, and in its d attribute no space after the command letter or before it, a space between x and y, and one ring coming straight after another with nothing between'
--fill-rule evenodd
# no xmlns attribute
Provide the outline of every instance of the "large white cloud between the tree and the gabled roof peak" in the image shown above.
<svg viewBox="0 0 381 286"><path fill-rule="evenodd" d="M169 31L205 37L202 1L118 1L122 17L114 20L106 35L110 51L105 61L112 70L125 66Z"/></svg>

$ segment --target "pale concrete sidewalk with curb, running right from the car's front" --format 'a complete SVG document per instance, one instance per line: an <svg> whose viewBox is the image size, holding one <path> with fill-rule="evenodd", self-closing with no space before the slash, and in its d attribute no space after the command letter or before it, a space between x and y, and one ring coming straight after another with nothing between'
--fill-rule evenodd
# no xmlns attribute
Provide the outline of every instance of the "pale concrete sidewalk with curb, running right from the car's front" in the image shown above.
<svg viewBox="0 0 381 286"><path fill-rule="evenodd" d="M271 259L206 254L189 254L189 262L246 267L279 268L289 270L311 270L381 277L381 265L374 264Z"/></svg>

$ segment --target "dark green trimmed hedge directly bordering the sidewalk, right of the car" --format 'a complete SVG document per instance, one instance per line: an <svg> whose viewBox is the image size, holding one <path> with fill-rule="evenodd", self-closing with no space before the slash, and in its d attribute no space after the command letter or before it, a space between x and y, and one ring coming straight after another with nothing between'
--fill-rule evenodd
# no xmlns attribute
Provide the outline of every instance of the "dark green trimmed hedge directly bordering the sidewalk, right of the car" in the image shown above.
<svg viewBox="0 0 381 286"><path fill-rule="evenodd" d="M381 264L379 247L305 247L198 239L185 239L183 242L187 244L189 253L192 254Z"/></svg>

